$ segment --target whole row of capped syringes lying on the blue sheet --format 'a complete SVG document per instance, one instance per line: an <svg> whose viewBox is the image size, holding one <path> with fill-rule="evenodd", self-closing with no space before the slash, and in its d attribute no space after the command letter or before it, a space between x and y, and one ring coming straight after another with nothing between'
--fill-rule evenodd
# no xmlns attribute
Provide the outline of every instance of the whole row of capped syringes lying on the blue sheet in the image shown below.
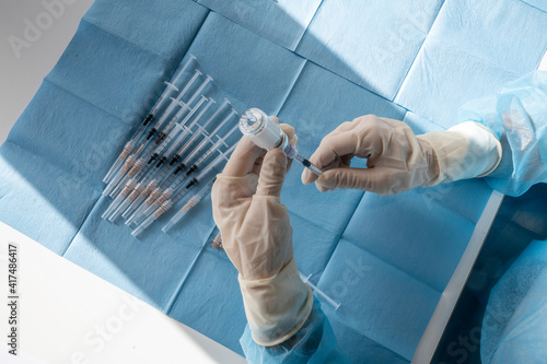
<svg viewBox="0 0 547 364"><path fill-rule="evenodd" d="M123 216L126 225L136 226L133 236L183 200L194 186L202 186L162 230L175 225L210 192L214 169L222 169L235 148L229 139L237 130L237 113L228 99L214 109L216 101L203 95L212 78L191 68L194 62L196 57L190 55L171 81L164 82L164 91L103 179L103 195L113 198L103 219L115 222ZM221 136L224 129L228 131Z"/></svg>

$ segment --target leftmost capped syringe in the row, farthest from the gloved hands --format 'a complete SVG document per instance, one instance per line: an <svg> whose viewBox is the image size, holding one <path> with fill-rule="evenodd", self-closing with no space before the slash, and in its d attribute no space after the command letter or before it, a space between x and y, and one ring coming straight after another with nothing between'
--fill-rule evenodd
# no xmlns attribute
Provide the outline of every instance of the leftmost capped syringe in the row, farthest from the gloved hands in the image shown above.
<svg viewBox="0 0 547 364"><path fill-rule="evenodd" d="M118 158L114 162L114 164L112 165L110 169L108 171L108 173L106 174L106 176L103 179L103 181L105 184L107 184L107 183L110 181L110 179L114 177L115 173L124 164L124 161L126 160L126 157L129 156L129 154L132 152L132 150L135 148L135 144L142 137L142 134L144 133L148 125L154 118L154 116L158 113L158 110L164 106L165 102L167 101L168 95L173 91L175 91L175 92L178 91L178 89L176 86L176 84L178 83L178 80L183 77L184 72L186 72L186 70L188 69L188 67L190 66L190 63L195 59L196 59L196 57L194 55L190 55L189 59L183 66L183 68L181 69L181 71L174 78L171 79L173 81L171 81L171 82L164 81L165 89L163 90L162 94L160 95L160 98L158 98L158 101L155 102L154 106L152 106L152 108L148 113L148 116L144 118L144 121L142 121L142 124L140 125L139 129L133 133L132 138L124 145L124 149L123 149L121 153L119 154Z"/></svg>

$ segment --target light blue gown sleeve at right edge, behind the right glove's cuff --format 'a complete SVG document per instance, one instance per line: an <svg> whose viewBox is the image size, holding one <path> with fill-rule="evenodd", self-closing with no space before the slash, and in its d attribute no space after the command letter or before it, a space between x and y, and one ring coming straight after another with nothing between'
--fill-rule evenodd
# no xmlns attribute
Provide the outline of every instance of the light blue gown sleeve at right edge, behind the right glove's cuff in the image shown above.
<svg viewBox="0 0 547 364"><path fill-rule="evenodd" d="M534 71L496 96L467 103L458 121L482 124L501 142L501 162L485 177L490 187L515 197L547 181L547 71Z"/></svg>

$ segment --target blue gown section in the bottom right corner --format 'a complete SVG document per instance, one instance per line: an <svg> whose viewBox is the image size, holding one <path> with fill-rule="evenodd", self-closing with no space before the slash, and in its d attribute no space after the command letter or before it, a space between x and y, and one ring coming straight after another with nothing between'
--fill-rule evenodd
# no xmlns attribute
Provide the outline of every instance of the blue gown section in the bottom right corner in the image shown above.
<svg viewBox="0 0 547 364"><path fill-rule="evenodd" d="M542 363L547 357L547 240L535 240L490 293L482 321L482 363Z"/></svg>

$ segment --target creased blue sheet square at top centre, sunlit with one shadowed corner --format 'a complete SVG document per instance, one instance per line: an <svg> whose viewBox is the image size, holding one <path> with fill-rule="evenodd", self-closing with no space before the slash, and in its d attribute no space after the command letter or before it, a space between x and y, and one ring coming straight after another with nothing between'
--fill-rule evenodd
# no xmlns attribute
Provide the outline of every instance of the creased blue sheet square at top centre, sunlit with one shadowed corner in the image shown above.
<svg viewBox="0 0 547 364"><path fill-rule="evenodd" d="M442 2L325 0L296 52L392 101Z"/></svg>

